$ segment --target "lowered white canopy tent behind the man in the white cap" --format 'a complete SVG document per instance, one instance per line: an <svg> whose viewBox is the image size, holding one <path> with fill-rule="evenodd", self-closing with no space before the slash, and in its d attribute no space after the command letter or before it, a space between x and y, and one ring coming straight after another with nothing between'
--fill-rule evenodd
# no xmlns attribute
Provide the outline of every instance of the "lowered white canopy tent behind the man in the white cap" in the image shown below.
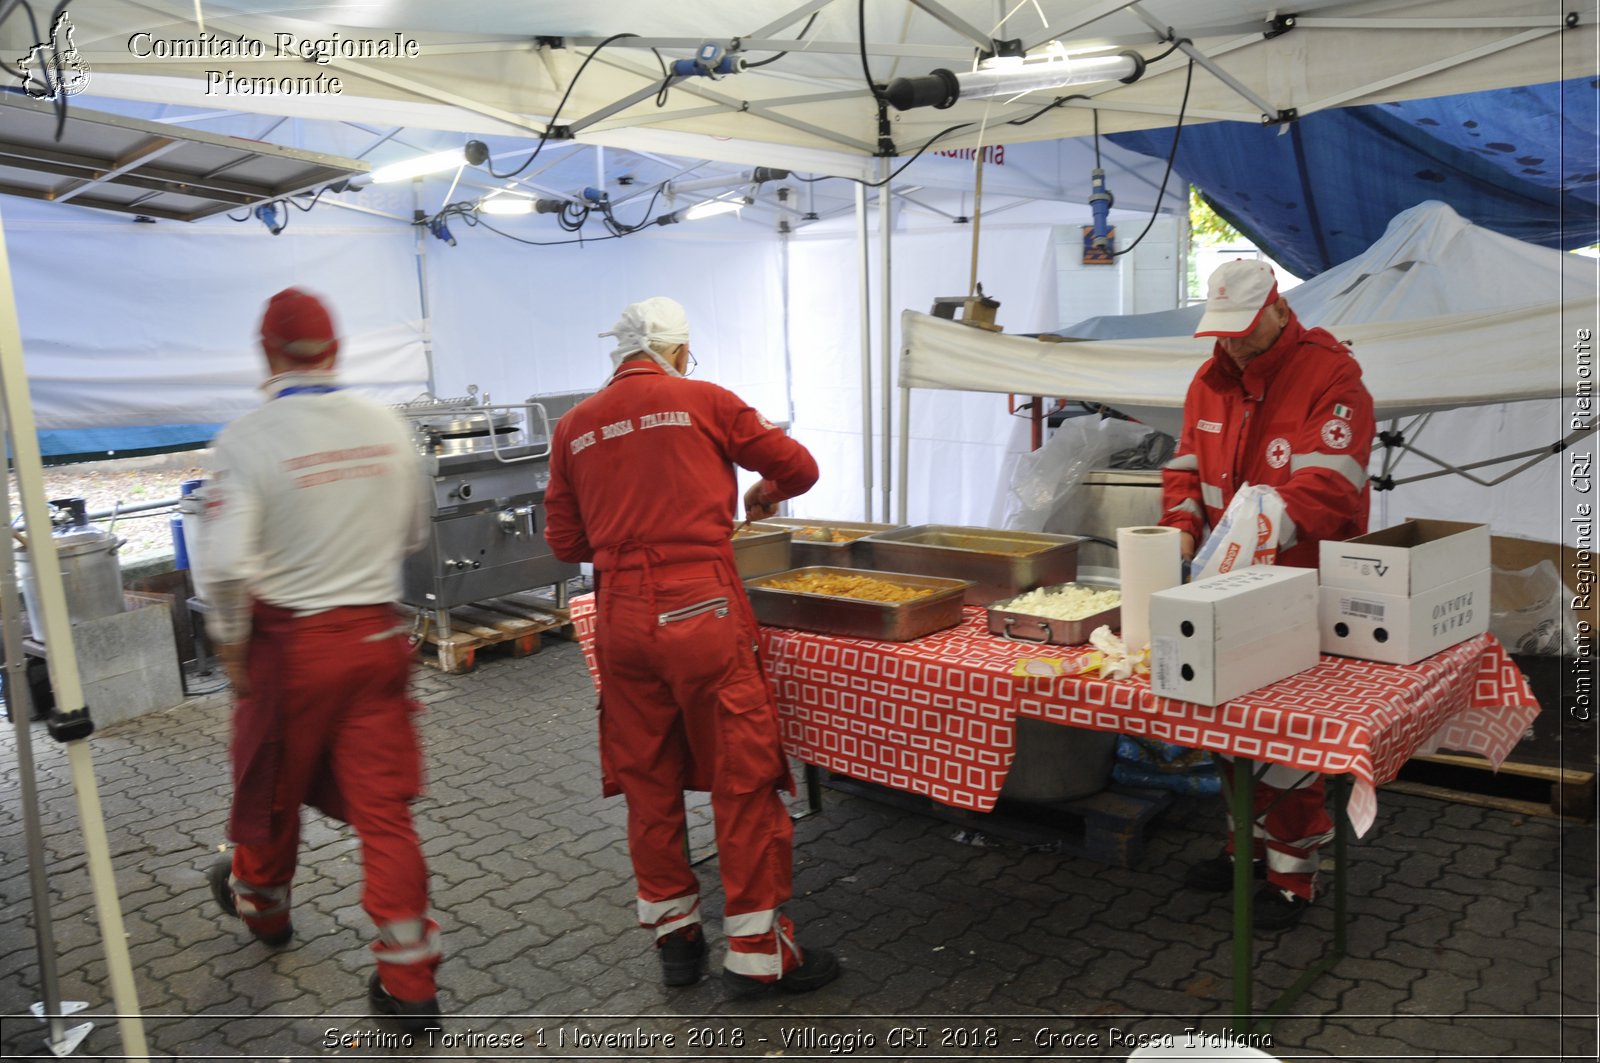
<svg viewBox="0 0 1600 1063"><path fill-rule="evenodd" d="M1426 450L1451 466L1512 455L1549 456L1573 435L1562 399L1574 394L1574 330L1600 314L1594 259L1550 251L1478 229L1442 203L1397 216L1365 255L1293 288L1285 299L1309 325L1334 331L1362 363L1381 427L1416 442L1416 418L1430 418ZM906 312L899 384L914 387L1061 395L1110 405L1170 434L1211 341L1192 336L1202 307L1115 322L1080 331L1118 331L1125 339L1040 343L995 336ZM1067 333L1074 330L1066 330ZM1134 338L1139 333L1149 333ZM1387 423L1387 424L1384 424ZM901 442L904 459L906 442ZM1520 469L1499 464L1496 472ZM1430 464L1386 464L1374 472L1408 475ZM1498 532L1560 538L1560 482L1566 471L1542 463L1485 491L1464 482L1403 485L1374 495L1384 517L1490 520Z"/></svg>

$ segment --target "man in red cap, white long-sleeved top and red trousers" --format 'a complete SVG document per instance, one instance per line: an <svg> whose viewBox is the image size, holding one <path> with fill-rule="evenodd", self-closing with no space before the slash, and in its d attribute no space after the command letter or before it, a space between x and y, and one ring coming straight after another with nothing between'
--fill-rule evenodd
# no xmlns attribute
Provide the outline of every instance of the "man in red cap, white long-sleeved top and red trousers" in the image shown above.
<svg viewBox="0 0 1600 1063"><path fill-rule="evenodd" d="M286 288L261 319L267 402L216 437L202 535L206 628L234 688L232 855L221 908L285 945L301 805L355 828L362 906L378 925L373 1009L438 1026L438 924L411 823L422 764L395 610L424 543L422 474L405 421L341 387L322 301Z"/></svg>

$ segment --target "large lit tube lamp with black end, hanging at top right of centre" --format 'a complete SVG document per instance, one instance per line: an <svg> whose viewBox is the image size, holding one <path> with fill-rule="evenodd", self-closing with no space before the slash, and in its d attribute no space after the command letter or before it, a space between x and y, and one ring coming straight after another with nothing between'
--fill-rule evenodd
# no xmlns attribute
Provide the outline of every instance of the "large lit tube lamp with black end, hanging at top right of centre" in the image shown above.
<svg viewBox="0 0 1600 1063"><path fill-rule="evenodd" d="M1040 56L994 56L976 70L933 70L923 77L898 77L883 98L896 110L912 107L950 107L957 99L989 99L1021 96L1046 88L1091 85L1094 82L1138 82L1144 75L1144 56L1118 51L1109 56L1069 56L1059 43Z"/></svg>

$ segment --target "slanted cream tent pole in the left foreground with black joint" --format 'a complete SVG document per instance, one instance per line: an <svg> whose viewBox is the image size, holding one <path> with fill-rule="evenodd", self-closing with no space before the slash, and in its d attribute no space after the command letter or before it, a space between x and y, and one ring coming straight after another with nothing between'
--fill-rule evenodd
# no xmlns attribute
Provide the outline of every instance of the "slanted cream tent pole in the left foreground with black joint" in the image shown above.
<svg viewBox="0 0 1600 1063"><path fill-rule="evenodd" d="M117 898L117 877L110 866L106 820L101 812L99 788L88 735L93 730L83 704L78 658L67 623L67 594L61 581L61 559L50 535L50 512L45 507L45 471L38 456L38 431L22 365L22 328L16 317L16 290L11 285L11 259L5 247L5 224L0 219L0 405L5 407L11 434L11 464L16 471L18 495L22 498L29 551L38 584L40 613L45 618L45 640L50 644L50 682L56 692L51 733L67 746L72 767L72 789L78 800L78 823L83 831L83 855L88 860L94 890L94 913L99 917L101 945L106 949L106 973L110 978L112 1002L125 1058L146 1060L144 1020L139 1015L139 993L133 983L128 938ZM66 719L62 719L66 717ZM59 728L58 728L59 725Z"/></svg>

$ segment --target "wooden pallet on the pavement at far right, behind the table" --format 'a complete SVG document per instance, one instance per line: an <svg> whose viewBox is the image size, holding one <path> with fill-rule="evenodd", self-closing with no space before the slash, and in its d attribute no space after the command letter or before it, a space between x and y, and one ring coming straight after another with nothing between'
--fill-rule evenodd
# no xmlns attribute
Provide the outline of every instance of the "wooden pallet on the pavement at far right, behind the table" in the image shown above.
<svg viewBox="0 0 1600 1063"><path fill-rule="evenodd" d="M1499 772L1483 757L1413 757L1384 789L1523 815L1589 823L1595 815L1595 773L1507 760Z"/></svg>

